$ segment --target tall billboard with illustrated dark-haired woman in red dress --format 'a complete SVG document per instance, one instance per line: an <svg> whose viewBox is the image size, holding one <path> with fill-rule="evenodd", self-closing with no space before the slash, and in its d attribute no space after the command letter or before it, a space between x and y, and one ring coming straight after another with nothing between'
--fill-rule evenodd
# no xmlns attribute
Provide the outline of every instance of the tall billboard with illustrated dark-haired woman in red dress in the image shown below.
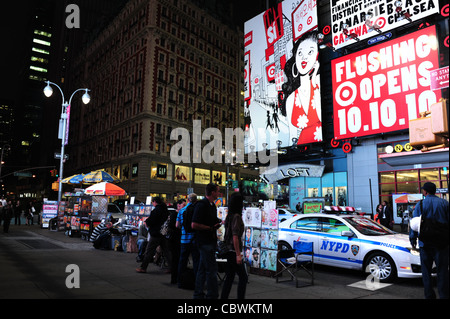
<svg viewBox="0 0 450 319"><path fill-rule="evenodd" d="M245 150L322 141L315 0L285 0L244 26Z"/></svg>

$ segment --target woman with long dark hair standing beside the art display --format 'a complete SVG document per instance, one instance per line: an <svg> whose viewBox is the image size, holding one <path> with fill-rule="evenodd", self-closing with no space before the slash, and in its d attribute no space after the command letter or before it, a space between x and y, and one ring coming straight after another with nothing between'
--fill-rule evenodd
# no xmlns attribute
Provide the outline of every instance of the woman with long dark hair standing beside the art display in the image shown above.
<svg viewBox="0 0 450 319"><path fill-rule="evenodd" d="M245 298L248 275L245 264L242 261L242 236L244 234L244 221L242 220L242 208L244 207L244 198L240 193L233 193L230 196L228 205L228 215L225 219L224 242L229 247L225 258L225 282L222 287L222 299L228 299L233 285L234 277L239 277L237 288L237 299Z"/></svg>

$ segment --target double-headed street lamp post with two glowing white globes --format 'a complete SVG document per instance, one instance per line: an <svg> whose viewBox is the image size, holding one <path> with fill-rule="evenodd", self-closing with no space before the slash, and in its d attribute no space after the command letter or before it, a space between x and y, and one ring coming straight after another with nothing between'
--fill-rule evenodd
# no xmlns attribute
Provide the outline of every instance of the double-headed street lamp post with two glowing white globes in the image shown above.
<svg viewBox="0 0 450 319"><path fill-rule="evenodd" d="M91 97L89 96L89 90L88 89L78 89L75 92L72 93L72 95L70 96L69 99L69 103L67 103L67 101L64 99L64 93L61 90L61 88L53 82L50 81L45 81L47 83L47 86L44 88L44 94L46 97L50 97L53 94L53 89L50 85L54 85L56 86L59 91L61 92L61 96L62 96L62 109L61 109L61 119L59 120L59 130L61 134L58 134L58 137L61 138L61 159L60 159L60 164L59 164L59 185L58 185L58 208L59 208L59 203L61 202L61 193L62 193L62 179L63 179L63 167L64 167L64 147L67 144L67 134L68 132L66 132L67 130L67 123L69 121L68 115L67 115L67 111L68 109L70 110L70 105L72 102L72 98L75 95L75 93L77 93L78 91L85 91L85 93L82 96L82 101L84 104L88 104L91 100Z"/></svg>

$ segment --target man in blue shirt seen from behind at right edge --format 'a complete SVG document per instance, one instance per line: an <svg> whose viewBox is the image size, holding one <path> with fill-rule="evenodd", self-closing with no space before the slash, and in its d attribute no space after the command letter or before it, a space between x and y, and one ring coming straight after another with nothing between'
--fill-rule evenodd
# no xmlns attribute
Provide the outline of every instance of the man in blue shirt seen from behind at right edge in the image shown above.
<svg viewBox="0 0 450 319"><path fill-rule="evenodd" d="M422 194L425 199L422 201L422 205L417 204L413 217L419 217L423 212L426 213L427 218L434 219L435 221L443 224L447 224L449 219L449 205L448 201L437 197L436 185L430 182L426 182L422 187ZM423 209L423 211L422 211ZM409 238L413 248L416 247L419 234L414 230L410 230ZM433 290L433 284L431 280L431 269L433 267L433 261L436 263L437 269L437 288L439 297L442 299L448 299L448 257L449 257L449 244L447 243L441 247L436 247L430 243L423 243L419 240L420 250L420 263L422 268L422 281L424 285L425 298L435 299L436 294Z"/></svg>

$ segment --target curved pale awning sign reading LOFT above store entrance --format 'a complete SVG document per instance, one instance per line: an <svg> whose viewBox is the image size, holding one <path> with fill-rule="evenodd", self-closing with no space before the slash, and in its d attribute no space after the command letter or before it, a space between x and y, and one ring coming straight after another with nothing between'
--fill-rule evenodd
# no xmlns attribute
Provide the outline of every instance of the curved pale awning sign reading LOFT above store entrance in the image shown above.
<svg viewBox="0 0 450 319"><path fill-rule="evenodd" d="M267 183L274 183L285 178L295 177L322 177L325 165L312 164L285 164L277 168L268 168L261 174Z"/></svg>

